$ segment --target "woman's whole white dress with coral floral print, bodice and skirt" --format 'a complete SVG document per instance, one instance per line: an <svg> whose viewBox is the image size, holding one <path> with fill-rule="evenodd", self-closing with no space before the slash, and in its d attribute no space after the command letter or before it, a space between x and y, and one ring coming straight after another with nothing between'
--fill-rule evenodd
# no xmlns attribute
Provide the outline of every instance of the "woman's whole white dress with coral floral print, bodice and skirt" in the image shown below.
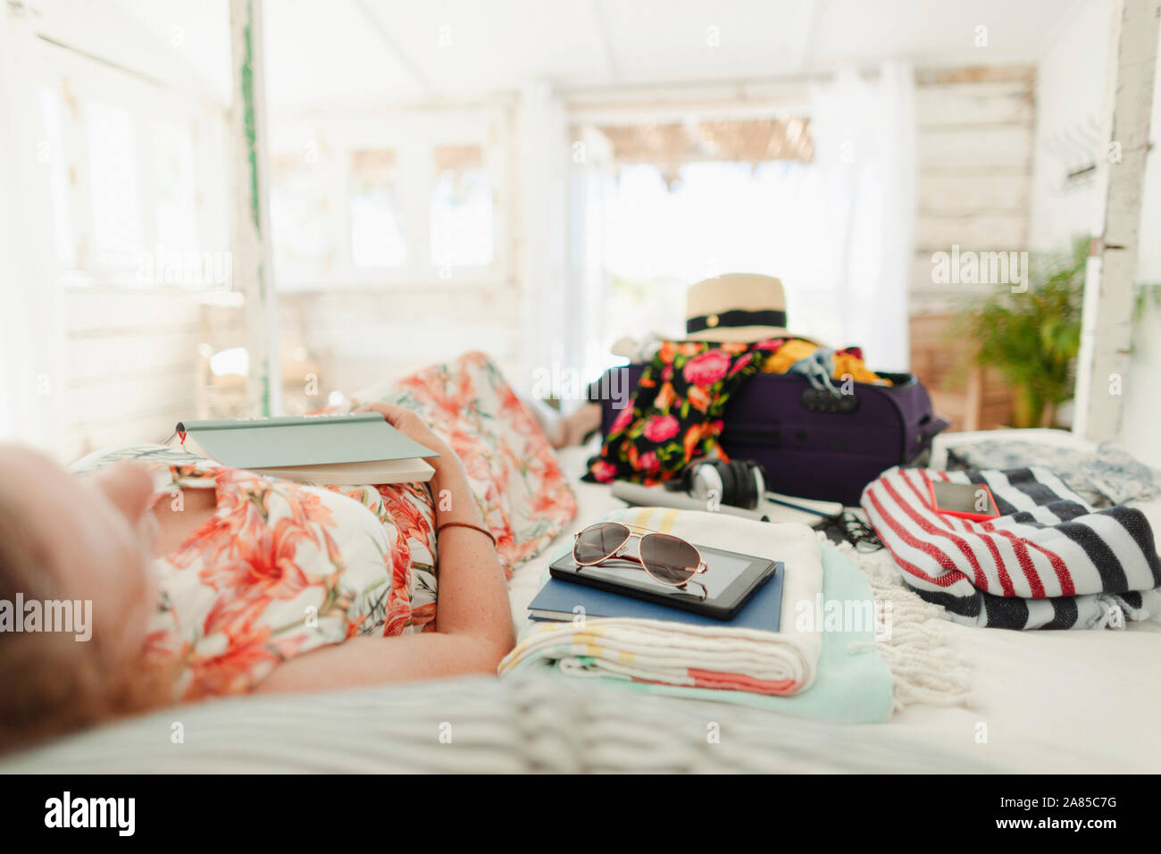
<svg viewBox="0 0 1161 854"><path fill-rule="evenodd" d="M482 353L359 399L414 409L452 446L509 575L575 516L548 440ZM215 491L212 517L154 561L160 601L149 647L178 670L178 698L247 691L311 650L434 620L438 547L426 485L316 487L164 445L106 451L73 471L118 459L146 462L160 501Z"/></svg>

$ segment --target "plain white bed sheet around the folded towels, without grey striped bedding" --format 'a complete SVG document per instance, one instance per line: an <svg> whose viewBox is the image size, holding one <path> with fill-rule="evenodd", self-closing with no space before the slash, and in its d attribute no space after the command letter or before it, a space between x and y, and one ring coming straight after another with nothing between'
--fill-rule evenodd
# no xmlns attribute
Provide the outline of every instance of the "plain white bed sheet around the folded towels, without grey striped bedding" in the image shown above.
<svg viewBox="0 0 1161 854"><path fill-rule="evenodd" d="M560 454L578 474L591 447ZM558 543L625 504L607 487L574 481L572 526L520 567L510 587L512 615L522 625L549 555ZM1161 501L1141 505L1161 531ZM844 727L868 740L888 732L917 749L1017 773L1161 772L1161 625L1123 631L1031 631L944 624L949 643L972 668L968 708L914 705L886 724ZM947 770L956 770L949 768Z"/></svg>

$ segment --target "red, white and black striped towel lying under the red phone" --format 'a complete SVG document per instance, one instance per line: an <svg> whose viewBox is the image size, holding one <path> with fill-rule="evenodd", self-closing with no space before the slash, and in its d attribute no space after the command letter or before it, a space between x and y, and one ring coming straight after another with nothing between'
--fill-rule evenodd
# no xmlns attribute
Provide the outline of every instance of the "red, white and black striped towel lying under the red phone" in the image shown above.
<svg viewBox="0 0 1161 854"><path fill-rule="evenodd" d="M929 479L987 483L1000 517L937 512ZM1161 613L1161 561L1139 510L1094 510L1051 472L892 468L863 509L907 584L959 623L1101 629Z"/></svg>

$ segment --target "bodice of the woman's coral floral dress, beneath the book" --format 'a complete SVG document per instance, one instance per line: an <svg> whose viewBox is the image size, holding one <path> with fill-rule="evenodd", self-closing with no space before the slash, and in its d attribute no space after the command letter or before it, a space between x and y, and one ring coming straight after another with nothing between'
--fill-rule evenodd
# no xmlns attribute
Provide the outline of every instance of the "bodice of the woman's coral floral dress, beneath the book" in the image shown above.
<svg viewBox="0 0 1161 854"><path fill-rule="evenodd" d="M435 618L437 548L423 483L316 487L229 468L180 447L86 459L146 462L154 497L180 510L212 489L214 515L153 561L149 636L180 699L236 694L279 663L356 634L421 631Z"/></svg>

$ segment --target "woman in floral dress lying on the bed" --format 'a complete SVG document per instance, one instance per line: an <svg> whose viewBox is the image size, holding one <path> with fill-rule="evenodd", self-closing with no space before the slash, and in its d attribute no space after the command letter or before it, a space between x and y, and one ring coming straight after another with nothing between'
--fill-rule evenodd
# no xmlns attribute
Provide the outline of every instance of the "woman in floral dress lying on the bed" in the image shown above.
<svg viewBox="0 0 1161 854"><path fill-rule="evenodd" d="M0 446L0 603L92 602L87 641L0 633L0 749L174 701L495 673L505 574L572 493L482 354L381 396L366 408L440 453L428 483L308 487L164 446L78 476Z"/></svg>

